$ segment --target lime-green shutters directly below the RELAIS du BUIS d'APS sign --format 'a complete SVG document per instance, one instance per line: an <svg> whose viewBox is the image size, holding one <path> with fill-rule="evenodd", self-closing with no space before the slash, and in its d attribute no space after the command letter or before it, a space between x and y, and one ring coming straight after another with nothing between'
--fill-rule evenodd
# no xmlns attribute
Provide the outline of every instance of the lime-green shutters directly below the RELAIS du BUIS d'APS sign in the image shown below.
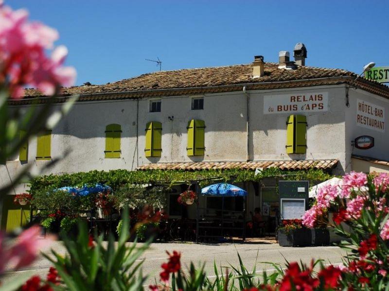
<svg viewBox="0 0 389 291"><path fill-rule="evenodd" d="M305 154L307 149L307 117L290 115L286 124L286 153Z"/></svg>

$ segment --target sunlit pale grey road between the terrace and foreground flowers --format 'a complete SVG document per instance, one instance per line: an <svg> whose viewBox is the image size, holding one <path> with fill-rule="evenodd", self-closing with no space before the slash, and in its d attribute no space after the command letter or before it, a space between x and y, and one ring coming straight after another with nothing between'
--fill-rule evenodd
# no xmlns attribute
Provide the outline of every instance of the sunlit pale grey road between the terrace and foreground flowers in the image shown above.
<svg viewBox="0 0 389 291"><path fill-rule="evenodd" d="M50 246L59 254L65 255L65 249L61 242L53 242ZM45 253L49 253L50 248L43 249ZM281 247L274 240L261 239L261 240L249 240L246 242L237 241L234 243L153 243L150 248L143 254L141 259L143 262L143 274L148 274L147 284L154 283L155 278L159 280L159 272L161 271L160 265L167 261L166 251L172 252L177 250L181 252L181 263L184 270L187 270L190 262L194 262L196 266L200 266L203 263L205 265L205 271L207 276L215 277L213 271L213 261L217 266L228 267L231 265L238 266L238 256L240 254L246 268L251 271L256 265L258 274L262 274L263 270L267 270L268 273L273 273L274 267L267 263L285 265L285 260L302 261L307 264L311 259L323 259L325 264L339 264L342 262L342 256L346 253L344 250L336 246L316 246L316 247ZM3 281L12 280L16 276L31 276L40 275L45 277L51 264L50 262L40 257L33 265L18 272L7 273ZM223 271L225 273L225 270ZM220 272L219 272L220 274Z"/></svg>

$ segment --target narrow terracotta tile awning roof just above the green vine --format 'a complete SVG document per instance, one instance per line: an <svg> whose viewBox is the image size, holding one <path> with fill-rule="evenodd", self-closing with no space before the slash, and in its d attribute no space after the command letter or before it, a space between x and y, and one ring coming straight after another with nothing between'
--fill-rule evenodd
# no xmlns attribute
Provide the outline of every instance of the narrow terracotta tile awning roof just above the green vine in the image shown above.
<svg viewBox="0 0 389 291"><path fill-rule="evenodd" d="M253 161L253 162L159 162L144 164L137 170L223 170L223 169L242 169L255 170L257 168L277 167L281 170L307 170L332 169L336 166L338 160L285 160L285 161Z"/></svg>

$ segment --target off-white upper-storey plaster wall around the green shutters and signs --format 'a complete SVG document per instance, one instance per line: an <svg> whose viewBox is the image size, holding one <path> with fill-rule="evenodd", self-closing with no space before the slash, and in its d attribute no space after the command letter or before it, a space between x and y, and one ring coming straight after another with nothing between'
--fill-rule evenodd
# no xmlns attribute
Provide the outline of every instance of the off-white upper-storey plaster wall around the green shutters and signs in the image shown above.
<svg viewBox="0 0 389 291"><path fill-rule="evenodd" d="M281 94L309 94L328 92L328 111L299 113L307 115L307 153L287 155L286 118L289 113L263 114L264 96ZM389 159L387 133L356 127L355 99L364 98L385 106L389 114L389 100L372 94L350 90L350 107L345 107L345 87L316 86L297 89L261 90L250 94L250 153L254 160L339 159L338 173L351 169L350 141L357 135L368 134L376 138L376 146L367 151L354 149L355 154ZM139 146L137 140L137 100L108 100L76 103L69 115L53 129L52 157L69 154L46 173L74 173L90 170L128 169L149 162L181 161L245 161L246 160L246 96L243 92L207 94L204 110L191 110L195 96L163 97L160 113L149 113L149 99L139 100ZM198 97L198 96L197 96ZM168 116L174 116L173 121ZM205 121L205 156L188 157L187 124L190 119ZM160 158L144 156L144 129L149 121L162 123L162 155ZM120 159L105 159L106 125L122 126ZM346 125L345 125L346 123ZM29 143L32 172L47 161L35 161L36 139ZM7 183L25 165L18 161L0 165L0 183ZM22 187L22 186L20 186ZM19 188L16 192L23 191Z"/></svg>

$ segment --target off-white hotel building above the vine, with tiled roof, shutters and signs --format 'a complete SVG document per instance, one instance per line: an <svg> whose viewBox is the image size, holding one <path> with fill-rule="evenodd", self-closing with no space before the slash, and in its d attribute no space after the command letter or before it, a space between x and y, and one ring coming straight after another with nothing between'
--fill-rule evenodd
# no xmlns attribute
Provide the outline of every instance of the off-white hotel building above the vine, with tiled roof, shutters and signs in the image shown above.
<svg viewBox="0 0 389 291"><path fill-rule="evenodd" d="M38 172L65 152L50 173L269 166L335 174L388 171L389 88L355 80L349 71L305 66L306 54L299 50L295 56L295 63L282 52L278 64L259 56L248 65L161 71L65 88L64 97L79 94L79 101L41 137L40 149L32 139L24 161L0 165L0 183L27 164ZM27 108L36 98L45 102L35 90L11 102ZM373 137L374 146L356 148L354 139L362 135ZM248 210L262 207L274 186L264 184L257 196L250 185Z"/></svg>

